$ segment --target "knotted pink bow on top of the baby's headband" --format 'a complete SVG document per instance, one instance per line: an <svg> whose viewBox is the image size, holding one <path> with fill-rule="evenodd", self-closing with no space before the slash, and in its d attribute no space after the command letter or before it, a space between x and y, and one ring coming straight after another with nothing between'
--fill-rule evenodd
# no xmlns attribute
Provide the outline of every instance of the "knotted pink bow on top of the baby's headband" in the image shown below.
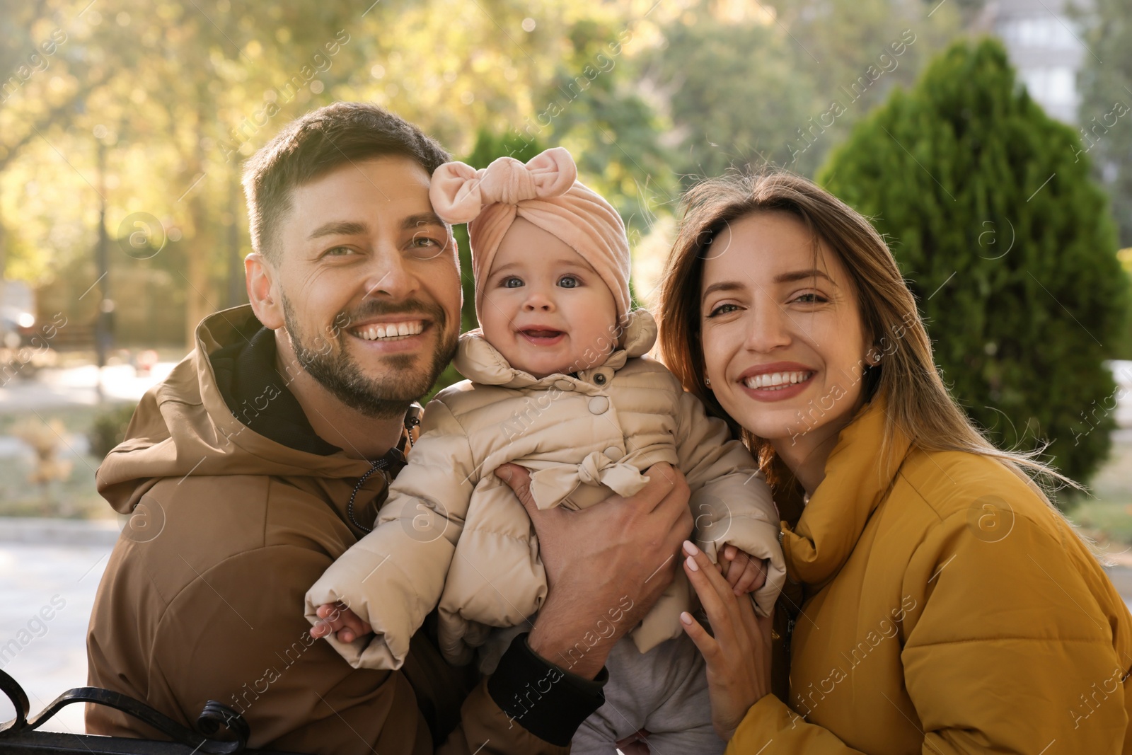
<svg viewBox="0 0 1132 755"><path fill-rule="evenodd" d="M455 225L475 220L483 205L561 196L576 179L574 158L563 147L552 147L525 165L514 157L499 157L482 170L445 163L432 173L429 198L436 214Z"/></svg>

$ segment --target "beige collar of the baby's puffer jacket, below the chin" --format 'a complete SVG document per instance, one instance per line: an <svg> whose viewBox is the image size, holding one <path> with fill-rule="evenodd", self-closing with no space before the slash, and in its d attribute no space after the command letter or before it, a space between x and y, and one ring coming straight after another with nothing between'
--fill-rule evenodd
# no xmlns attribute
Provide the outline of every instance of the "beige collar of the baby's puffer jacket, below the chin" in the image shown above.
<svg viewBox="0 0 1132 755"><path fill-rule="evenodd" d="M628 314L627 323L619 338L620 348L616 349L604 362L578 372L578 377L589 380L595 372L610 375L625 367L635 357L649 353L657 342L657 320L646 309L636 309ZM537 378L530 372L512 367L499 350L483 337L480 328L460 336L460 348L452 361L453 367L472 383L482 385L499 385L507 388L525 388L542 381L552 383L554 375ZM607 376L608 377L608 376Z"/></svg>

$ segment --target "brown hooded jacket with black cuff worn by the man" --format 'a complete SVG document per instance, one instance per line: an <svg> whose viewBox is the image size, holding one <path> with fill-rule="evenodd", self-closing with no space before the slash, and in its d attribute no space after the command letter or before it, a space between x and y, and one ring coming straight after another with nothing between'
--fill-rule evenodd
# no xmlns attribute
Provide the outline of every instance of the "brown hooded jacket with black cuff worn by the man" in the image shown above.
<svg viewBox="0 0 1132 755"><path fill-rule="evenodd" d="M242 713L252 747L568 752L574 728L601 704L600 683L557 674L566 684L547 700L565 704L556 700L554 717L513 710L516 721L496 701L506 706L555 674L525 638L490 685L448 666L429 625L400 671L353 669L311 638L303 594L363 534L346 504L370 463L314 434L274 359L274 335L250 307L206 318L197 349L146 393L98 469L100 492L131 516L92 612L89 684L186 726L217 700ZM395 473L403 456L394 449L387 461ZM374 522L385 487L383 474L365 480L358 521ZM108 707L88 706L86 722L92 733L160 738Z"/></svg>

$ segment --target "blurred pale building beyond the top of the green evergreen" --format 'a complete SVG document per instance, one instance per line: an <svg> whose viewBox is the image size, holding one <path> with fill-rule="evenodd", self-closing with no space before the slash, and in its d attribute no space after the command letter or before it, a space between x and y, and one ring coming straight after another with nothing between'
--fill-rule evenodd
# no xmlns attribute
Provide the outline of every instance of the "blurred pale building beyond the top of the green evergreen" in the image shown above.
<svg viewBox="0 0 1132 755"><path fill-rule="evenodd" d="M1078 71L1090 54L1082 42L1081 0L990 0L972 31L1002 38L1018 78L1054 118L1077 123Z"/></svg>

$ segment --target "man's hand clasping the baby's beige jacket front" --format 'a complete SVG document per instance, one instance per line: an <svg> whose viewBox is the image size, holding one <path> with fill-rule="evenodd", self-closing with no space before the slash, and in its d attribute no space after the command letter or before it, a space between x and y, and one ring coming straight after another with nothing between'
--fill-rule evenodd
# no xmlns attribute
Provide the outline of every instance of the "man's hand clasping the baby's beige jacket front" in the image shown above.
<svg viewBox="0 0 1132 755"><path fill-rule="evenodd" d="M692 533L688 484L679 470L654 464L635 496L611 496L577 512L539 511L525 469L504 464L496 475L526 508L547 570L549 592L528 640L531 650L592 679L672 581L680 543ZM594 637L591 647L586 640Z"/></svg>

